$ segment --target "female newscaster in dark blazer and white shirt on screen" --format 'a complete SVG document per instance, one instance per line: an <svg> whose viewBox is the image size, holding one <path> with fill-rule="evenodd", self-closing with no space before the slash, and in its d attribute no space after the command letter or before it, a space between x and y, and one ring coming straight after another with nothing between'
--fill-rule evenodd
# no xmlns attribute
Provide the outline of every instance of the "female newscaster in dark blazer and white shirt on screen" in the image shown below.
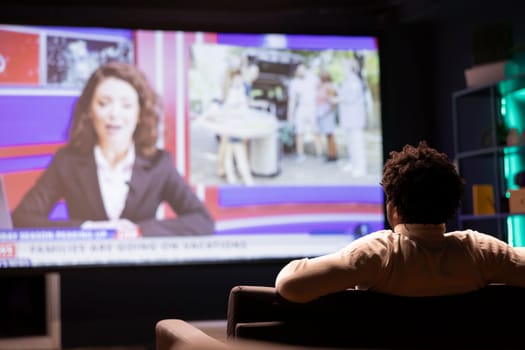
<svg viewBox="0 0 525 350"><path fill-rule="evenodd" d="M14 226L110 228L130 238L212 234L209 211L157 147L160 110L135 66L96 69L75 106L69 141L13 211ZM67 219L50 220L62 199ZM175 215L157 218L162 203Z"/></svg>

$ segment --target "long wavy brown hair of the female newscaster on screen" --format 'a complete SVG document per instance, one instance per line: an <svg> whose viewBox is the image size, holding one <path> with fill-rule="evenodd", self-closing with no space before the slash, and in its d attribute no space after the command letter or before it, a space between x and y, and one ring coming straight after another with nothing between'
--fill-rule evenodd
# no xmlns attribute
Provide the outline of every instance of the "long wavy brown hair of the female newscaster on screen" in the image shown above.
<svg viewBox="0 0 525 350"><path fill-rule="evenodd" d="M112 61L100 66L87 81L73 112L68 147L89 152L98 142L95 127L90 117L91 102L97 87L107 78L117 78L131 84L139 95L140 114L133 141L138 154L151 157L157 151L158 127L160 123L160 99L146 76L132 64Z"/></svg>

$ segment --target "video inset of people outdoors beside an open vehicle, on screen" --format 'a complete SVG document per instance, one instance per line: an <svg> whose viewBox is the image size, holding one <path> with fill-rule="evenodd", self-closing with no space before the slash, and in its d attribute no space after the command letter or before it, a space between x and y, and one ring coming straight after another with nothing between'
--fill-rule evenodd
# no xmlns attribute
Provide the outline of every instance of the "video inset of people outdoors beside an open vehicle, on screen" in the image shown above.
<svg viewBox="0 0 525 350"><path fill-rule="evenodd" d="M206 45L192 53L190 90L207 87L191 103L192 182L377 183L379 82L366 53Z"/></svg>

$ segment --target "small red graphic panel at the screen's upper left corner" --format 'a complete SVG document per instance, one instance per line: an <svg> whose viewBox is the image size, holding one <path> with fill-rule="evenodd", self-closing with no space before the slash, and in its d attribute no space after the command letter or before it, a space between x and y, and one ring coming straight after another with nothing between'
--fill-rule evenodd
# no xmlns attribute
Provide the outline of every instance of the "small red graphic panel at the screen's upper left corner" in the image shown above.
<svg viewBox="0 0 525 350"><path fill-rule="evenodd" d="M0 29L0 43L0 84L38 84L38 34Z"/></svg>

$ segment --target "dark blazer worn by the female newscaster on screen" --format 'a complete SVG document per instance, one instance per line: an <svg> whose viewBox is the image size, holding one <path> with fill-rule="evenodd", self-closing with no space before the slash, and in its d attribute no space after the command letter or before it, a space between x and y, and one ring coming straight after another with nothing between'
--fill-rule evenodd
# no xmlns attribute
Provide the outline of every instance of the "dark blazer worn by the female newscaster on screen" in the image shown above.
<svg viewBox="0 0 525 350"><path fill-rule="evenodd" d="M61 199L67 205L68 219L50 221L49 213ZM163 202L171 206L176 218L156 219ZM58 150L12 218L15 227L79 227L87 220L108 220L93 151ZM207 208L177 172L171 154L164 150L152 158L136 155L121 218L139 225L143 236L206 235L212 234L215 226Z"/></svg>

